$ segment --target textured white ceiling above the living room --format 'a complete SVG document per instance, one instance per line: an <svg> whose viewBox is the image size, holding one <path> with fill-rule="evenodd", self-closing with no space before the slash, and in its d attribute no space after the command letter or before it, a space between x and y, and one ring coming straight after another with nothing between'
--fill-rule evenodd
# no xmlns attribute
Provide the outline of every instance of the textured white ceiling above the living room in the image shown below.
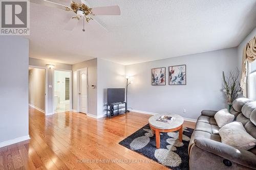
<svg viewBox="0 0 256 170"><path fill-rule="evenodd" d="M256 26L255 0L88 2L120 6L120 16L97 16L109 32L90 25L82 32L81 22L66 31L74 13L31 3L30 57L67 64L100 57L127 65L234 47Z"/></svg>

